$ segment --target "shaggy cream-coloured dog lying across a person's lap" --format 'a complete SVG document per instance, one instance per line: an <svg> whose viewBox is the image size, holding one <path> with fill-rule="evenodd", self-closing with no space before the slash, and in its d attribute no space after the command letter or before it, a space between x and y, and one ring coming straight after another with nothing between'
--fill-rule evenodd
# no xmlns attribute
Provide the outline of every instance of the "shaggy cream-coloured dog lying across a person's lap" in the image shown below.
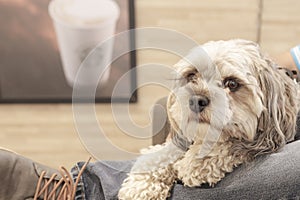
<svg viewBox="0 0 300 200"><path fill-rule="evenodd" d="M226 173L294 139L299 86L251 41L211 41L175 64L171 140L149 147L118 197L166 199L173 184L214 186Z"/></svg>

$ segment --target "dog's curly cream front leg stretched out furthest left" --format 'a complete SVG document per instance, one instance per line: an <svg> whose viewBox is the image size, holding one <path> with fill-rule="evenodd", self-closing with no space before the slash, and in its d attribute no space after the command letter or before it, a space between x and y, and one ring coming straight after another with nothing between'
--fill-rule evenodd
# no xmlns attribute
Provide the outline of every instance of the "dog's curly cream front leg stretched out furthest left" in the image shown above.
<svg viewBox="0 0 300 200"><path fill-rule="evenodd" d="M183 154L172 142L149 149L137 159L124 180L118 194L119 199L166 199L177 177L173 164Z"/></svg>

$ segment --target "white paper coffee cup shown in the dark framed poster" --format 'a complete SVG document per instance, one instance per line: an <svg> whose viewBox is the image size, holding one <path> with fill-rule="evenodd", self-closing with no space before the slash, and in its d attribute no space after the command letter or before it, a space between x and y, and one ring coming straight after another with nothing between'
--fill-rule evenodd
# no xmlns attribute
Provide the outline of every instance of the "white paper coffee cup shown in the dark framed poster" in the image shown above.
<svg viewBox="0 0 300 200"><path fill-rule="evenodd" d="M115 33L120 10L113 0L52 0L49 14L56 32L64 74L68 84L73 86L86 56ZM106 83L110 75L110 67L102 64L110 63L112 57L114 42L112 39L109 41L96 49L98 60L90 61L93 66L88 66L98 68L98 71L99 67L103 68L100 69L103 73L99 84ZM79 85L88 85L90 77L76 81Z"/></svg>

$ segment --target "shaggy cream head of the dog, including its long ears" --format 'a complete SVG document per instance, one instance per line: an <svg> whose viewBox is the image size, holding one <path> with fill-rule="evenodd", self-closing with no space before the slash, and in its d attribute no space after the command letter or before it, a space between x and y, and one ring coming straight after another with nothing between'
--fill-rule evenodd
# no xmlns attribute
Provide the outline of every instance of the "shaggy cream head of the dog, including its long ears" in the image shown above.
<svg viewBox="0 0 300 200"><path fill-rule="evenodd" d="M168 99L175 134L200 143L209 134L252 156L276 151L293 139L298 85L257 44L209 42L175 67L176 83Z"/></svg>

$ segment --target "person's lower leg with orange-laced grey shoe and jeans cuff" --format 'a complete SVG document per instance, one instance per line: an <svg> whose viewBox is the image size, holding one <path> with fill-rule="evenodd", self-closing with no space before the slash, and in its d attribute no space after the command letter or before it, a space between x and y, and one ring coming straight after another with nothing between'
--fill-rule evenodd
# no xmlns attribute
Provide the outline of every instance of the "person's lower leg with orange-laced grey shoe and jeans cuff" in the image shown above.
<svg viewBox="0 0 300 200"><path fill-rule="evenodd" d="M133 163L79 162L69 173L65 168L61 172L5 149L0 149L0 161L0 200L52 200L53 196L57 200L117 199Z"/></svg>

